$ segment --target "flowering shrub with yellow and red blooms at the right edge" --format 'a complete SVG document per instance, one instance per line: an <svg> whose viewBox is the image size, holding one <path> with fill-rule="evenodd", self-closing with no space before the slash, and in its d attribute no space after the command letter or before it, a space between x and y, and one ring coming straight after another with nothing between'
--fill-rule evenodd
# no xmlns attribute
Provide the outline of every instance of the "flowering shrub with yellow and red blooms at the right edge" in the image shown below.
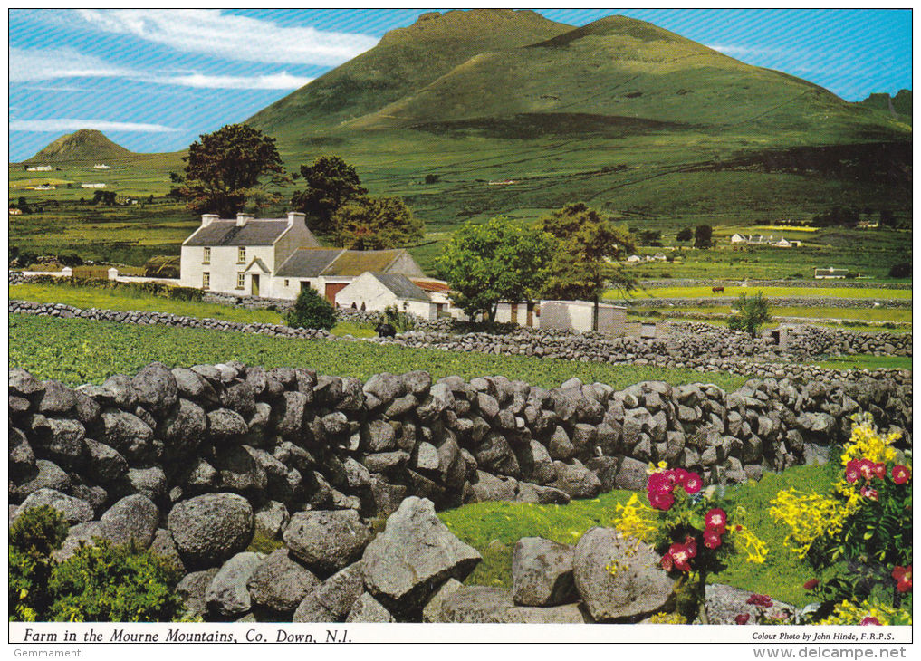
<svg viewBox="0 0 921 661"><path fill-rule="evenodd" d="M841 455L843 479L833 493L789 489L771 501L771 516L790 529L785 544L820 574L804 586L822 599L818 619L880 591L891 594L898 609L912 589L910 453L899 453L893 447L899 435L880 435L869 415L854 421ZM865 618L883 621L869 613L846 623Z"/></svg>

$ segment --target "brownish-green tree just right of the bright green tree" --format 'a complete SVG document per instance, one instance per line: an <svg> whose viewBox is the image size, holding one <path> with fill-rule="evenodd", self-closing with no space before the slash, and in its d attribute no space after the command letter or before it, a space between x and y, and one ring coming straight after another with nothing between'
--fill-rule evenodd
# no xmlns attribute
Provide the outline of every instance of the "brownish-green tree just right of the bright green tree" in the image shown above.
<svg viewBox="0 0 921 661"><path fill-rule="evenodd" d="M611 286L624 291L635 287L620 263L636 249L633 236L584 203L566 204L545 217L543 229L557 239L544 294L593 301L592 328L597 328L601 294Z"/></svg>

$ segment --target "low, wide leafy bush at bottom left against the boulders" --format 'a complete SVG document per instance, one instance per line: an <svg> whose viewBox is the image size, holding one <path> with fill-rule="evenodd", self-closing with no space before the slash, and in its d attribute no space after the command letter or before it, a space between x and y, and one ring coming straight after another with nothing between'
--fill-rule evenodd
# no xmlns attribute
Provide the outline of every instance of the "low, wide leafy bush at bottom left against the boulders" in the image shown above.
<svg viewBox="0 0 921 661"><path fill-rule="evenodd" d="M96 539L52 571L49 616L58 621L171 621L182 614L180 576L164 558L134 544Z"/></svg>

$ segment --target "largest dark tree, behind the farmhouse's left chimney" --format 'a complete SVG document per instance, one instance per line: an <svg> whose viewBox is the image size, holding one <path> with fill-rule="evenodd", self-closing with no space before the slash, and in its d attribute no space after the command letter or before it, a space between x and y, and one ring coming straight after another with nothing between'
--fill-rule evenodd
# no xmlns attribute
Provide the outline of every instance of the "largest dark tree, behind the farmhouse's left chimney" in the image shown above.
<svg viewBox="0 0 921 661"><path fill-rule="evenodd" d="M280 197L269 187L288 178L274 138L246 124L227 124L215 133L204 133L189 146L185 176L170 174L181 183L181 197L187 207L229 217L244 205L278 202Z"/></svg>

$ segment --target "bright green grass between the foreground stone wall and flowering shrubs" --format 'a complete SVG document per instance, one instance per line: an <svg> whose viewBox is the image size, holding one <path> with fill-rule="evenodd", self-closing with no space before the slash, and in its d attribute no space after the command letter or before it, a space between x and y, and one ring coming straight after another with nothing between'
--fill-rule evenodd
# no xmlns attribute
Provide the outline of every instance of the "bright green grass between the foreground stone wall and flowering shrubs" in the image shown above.
<svg viewBox="0 0 921 661"><path fill-rule="evenodd" d="M725 572L713 576L712 582L770 595L798 607L809 603L813 597L802 584L812 576L810 565L784 547L787 530L776 524L767 510L776 493L791 486L826 492L838 477L837 470L834 464L795 467L779 474L766 473L758 482L728 487L730 507L727 511L737 506L744 508L745 526L767 544L767 559L764 564L733 562ZM438 516L451 532L483 555L484 562L477 566L466 583L510 588L512 551L518 539L543 537L575 544L589 528L612 527L616 518L615 505L624 504L630 495L631 492L614 491L594 500L573 501L566 505L477 503Z"/></svg>

